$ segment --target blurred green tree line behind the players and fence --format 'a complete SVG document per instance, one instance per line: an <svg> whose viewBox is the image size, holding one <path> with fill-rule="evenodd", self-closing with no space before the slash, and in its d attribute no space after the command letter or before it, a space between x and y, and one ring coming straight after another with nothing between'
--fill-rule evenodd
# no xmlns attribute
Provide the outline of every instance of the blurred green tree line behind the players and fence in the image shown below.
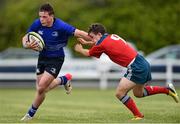
<svg viewBox="0 0 180 124"><path fill-rule="evenodd" d="M0 51L22 47L21 38L48 0L2 0L0 7ZM179 0L49 0L55 16L87 30L92 23L106 26L133 42L146 54L180 43ZM75 39L70 39L72 49Z"/></svg>

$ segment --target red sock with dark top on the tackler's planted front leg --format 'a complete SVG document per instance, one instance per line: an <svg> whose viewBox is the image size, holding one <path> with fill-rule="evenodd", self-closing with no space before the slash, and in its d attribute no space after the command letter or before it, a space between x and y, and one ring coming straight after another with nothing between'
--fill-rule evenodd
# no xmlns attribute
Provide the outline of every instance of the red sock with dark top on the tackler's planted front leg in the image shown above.
<svg viewBox="0 0 180 124"><path fill-rule="evenodd" d="M144 115L140 113L134 100L130 96L125 95L120 99L120 101L133 113L135 117L144 117Z"/></svg>

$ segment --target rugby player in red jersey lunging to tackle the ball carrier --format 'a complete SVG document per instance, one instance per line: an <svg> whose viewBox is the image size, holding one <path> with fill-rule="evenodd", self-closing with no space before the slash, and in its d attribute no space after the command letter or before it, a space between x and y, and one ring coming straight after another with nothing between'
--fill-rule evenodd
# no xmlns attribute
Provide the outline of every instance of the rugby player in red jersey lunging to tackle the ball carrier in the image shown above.
<svg viewBox="0 0 180 124"><path fill-rule="evenodd" d="M167 87L146 85L151 80L150 64L121 37L116 34L107 34L105 27L98 23L89 27L88 34L92 41L86 41L82 38L78 40L81 44L92 45L92 47L84 49L81 44L76 44L75 51L84 56L97 58L105 53L113 62L127 68L126 74L117 86L116 97L133 113L132 120L142 119L144 115L139 111L134 100L128 96L130 90L133 90L134 96L138 98L154 94L167 94L179 102L172 83L169 83Z"/></svg>

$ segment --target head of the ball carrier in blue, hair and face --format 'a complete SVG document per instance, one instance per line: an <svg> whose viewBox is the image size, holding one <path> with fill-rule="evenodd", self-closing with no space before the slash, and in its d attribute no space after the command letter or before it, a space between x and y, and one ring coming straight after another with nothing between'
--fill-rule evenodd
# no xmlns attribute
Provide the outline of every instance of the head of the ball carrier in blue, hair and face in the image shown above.
<svg viewBox="0 0 180 124"><path fill-rule="evenodd" d="M41 5L39 8L39 19L42 26L51 26L54 21L54 9L49 3Z"/></svg>

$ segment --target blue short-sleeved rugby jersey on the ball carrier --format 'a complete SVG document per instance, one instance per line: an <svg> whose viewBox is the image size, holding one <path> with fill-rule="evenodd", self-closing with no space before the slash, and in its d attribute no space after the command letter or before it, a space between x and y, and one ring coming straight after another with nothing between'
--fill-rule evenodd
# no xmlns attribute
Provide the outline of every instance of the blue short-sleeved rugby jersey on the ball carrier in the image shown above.
<svg viewBox="0 0 180 124"><path fill-rule="evenodd" d="M63 47L67 45L68 38L74 34L75 27L55 18L52 27L44 27L36 19L27 32L37 32L45 42L45 48L40 52L44 57L64 57Z"/></svg>

